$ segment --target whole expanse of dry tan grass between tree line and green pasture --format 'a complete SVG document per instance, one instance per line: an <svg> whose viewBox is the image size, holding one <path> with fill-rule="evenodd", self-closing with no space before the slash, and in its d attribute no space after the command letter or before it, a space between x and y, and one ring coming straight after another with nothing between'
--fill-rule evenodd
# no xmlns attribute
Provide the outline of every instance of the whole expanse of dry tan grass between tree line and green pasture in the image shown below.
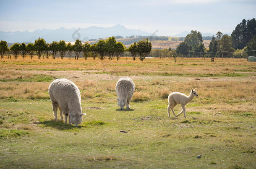
<svg viewBox="0 0 256 169"><path fill-rule="evenodd" d="M8 60L4 58L0 62L0 68L2 69L0 70L0 79L31 78L35 74L69 78L80 88L81 96L84 99L97 98L100 100L103 97L115 97L116 81L127 75L133 75L131 78L136 83L134 101L164 99L173 91L188 95L191 88L196 87L201 98L207 98L211 101L253 99L256 92L255 64L238 59L222 60L217 58L214 63L211 63L201 58L183 58L183 60L179 58L178 63L173 63L172 58L146 59L143 62L138 60L126 61L125 58L121 58L119 61L94 61L92 58L87 59L87 61L82 58L78 61L68 58L63 60L60 58L55 60L38 60L36 58L32 60L29 58ZM32 70L29 71L30 69ZM41 69L60 69L63 71L42 71ZM65 71L69 69L82 71ZM220 77L201 77L208 73L219 73ZM223 73L240 73L247 76L221 77ZM147 77L150 77L150 81L146 81ZM0 84L0 98L49 98L47 90L50 82L14 81L0 82Z"/></svg>

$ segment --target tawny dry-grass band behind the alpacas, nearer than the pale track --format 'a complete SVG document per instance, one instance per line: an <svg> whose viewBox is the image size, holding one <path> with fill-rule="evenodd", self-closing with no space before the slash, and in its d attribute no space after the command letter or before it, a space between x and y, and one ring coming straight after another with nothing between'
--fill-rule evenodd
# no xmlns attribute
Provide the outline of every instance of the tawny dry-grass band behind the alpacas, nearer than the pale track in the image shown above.
<svg viewBox="0 0 256 169"><path fill-rule="evenodd" d="M198 88L200 98L219 99L253 99L256 96L254 80L245 81L161 81L161 85L151 85L136 81L134 101L146 101L155 98L167 98L173 91L189 94L191 88ZM115 97L115 80L112 81L75 81L81 90L82 98ZM49 98L50 82L1 82L0 98ZM100 93L100 96L99 96Z"/></svg>

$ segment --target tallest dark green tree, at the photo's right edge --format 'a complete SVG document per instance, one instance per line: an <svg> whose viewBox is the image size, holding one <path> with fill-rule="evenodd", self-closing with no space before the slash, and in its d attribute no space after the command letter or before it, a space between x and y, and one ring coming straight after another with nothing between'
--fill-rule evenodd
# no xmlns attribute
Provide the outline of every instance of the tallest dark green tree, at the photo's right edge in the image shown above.
<svg viewBox="0 0 256 169"><path fill-rule="evenodd" d="M243 19L231 34L232 47L235 49L243 49L254 35L256 35L255 18L247 21Z"/></svg>

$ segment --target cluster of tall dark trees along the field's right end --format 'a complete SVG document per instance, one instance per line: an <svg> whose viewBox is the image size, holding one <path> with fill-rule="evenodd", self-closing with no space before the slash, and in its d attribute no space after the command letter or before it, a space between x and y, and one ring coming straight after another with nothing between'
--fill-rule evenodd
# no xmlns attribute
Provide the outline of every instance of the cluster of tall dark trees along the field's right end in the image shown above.
<svg viewBox="0 0 256 169"><path fill-rule="evenodd" d="M213 36L212 41L209 44L209 49L206 50L203 43L203 38L200 32L196 30L192 30L190 34L188 34L183 43L180 43L176 50L177 53L181 55L181 57L188 56L196 56L209 54L212 57L231 57L233 53L246 53L247 55L254 55L254 50L256 50L255 45L255 36L256 36L256 20L253 18L252 20L242 20L240 24L238 24L235 30L232 32L231 36L220 31L217 32L216 38ZM239 50L238 50L239 49ZM243 50L241 50L243 49Z"/></svg>

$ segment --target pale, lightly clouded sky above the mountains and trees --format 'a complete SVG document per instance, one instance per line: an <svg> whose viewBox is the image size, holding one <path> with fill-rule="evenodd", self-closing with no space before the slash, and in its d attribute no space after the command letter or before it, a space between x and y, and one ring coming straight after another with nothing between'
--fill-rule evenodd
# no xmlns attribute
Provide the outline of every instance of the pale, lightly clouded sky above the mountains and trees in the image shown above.
<svg viewBox="0 0 256 169"><path fill-rule="evenodd" d="M159 36L232 33L256 18L256 0L0 0L0 16L5 32L120 24Z"/></svg>

